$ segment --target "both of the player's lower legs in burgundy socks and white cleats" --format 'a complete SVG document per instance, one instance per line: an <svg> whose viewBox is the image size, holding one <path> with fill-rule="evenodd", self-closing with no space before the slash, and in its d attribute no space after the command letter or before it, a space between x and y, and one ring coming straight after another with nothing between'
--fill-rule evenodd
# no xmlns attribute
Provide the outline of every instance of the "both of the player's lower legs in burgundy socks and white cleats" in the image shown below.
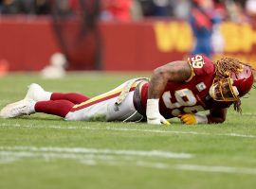
<svg viewBox="0 0 256 189"><path fill-rule="evenodd" d="M55 100L51 100L51 98ZM40 85L31 84L23 100L11 103L0 112L0 117L17 117L34 112L45 112L64 117L77 103L87 100L82 94L59 94L46 92ZM56 102L55 102L56 101ZM40 102L37 104L37 102Z"/></svg>

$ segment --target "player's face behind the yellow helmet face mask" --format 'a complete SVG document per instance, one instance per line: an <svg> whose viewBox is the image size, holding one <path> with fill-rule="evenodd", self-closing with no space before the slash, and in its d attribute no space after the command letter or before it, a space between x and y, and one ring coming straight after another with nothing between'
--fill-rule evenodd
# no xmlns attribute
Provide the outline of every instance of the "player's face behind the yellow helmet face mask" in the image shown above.
<svg viewBox="0 0 256 189"><path fill-rule="evenodd" d="M238 90L232 86L230 77L213 81L209 94L216 101L236 101L239 98Z"/></svg>

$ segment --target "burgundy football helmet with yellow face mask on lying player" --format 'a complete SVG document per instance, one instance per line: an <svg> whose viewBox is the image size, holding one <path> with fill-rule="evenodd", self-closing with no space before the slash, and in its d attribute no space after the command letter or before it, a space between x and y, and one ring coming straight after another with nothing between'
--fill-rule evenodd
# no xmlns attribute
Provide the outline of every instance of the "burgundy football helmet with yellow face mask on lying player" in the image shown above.
<svg viewBox="0 0 256 189"><path fill-rule="evenodd" d="M237 101L249 92L253 84L253 74L249 66L243 65L227 78L214 79L210 86L210 96L216 101Z"/></svg>

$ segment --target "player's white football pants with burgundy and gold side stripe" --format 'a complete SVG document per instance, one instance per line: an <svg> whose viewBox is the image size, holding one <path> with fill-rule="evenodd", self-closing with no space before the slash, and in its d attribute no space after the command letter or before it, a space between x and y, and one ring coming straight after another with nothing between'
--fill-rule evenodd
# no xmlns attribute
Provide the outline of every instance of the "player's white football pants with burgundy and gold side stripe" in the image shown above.
<svg viewBox="0 0 256 189"><path fill-rule="evenodd" d="M129 82L130 80L110 92L75 105L66 114L65 119L86 121L139 121L143 119L134 106L133 96L137 83L127 89ZM123 91L127 91L126 97L118 103Z"/></svg>

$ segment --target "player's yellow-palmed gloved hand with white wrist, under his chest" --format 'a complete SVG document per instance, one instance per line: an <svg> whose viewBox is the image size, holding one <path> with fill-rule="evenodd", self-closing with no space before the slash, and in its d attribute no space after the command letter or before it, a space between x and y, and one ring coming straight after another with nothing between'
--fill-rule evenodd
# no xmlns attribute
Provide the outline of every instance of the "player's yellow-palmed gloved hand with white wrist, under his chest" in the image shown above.
<svg viewBox="0 0 256 189"><path fill-rule="evenodd" d="M207 124L208 118L205 114L200 113L186 113L178 116L180 120L186 125Z"/></svg>

